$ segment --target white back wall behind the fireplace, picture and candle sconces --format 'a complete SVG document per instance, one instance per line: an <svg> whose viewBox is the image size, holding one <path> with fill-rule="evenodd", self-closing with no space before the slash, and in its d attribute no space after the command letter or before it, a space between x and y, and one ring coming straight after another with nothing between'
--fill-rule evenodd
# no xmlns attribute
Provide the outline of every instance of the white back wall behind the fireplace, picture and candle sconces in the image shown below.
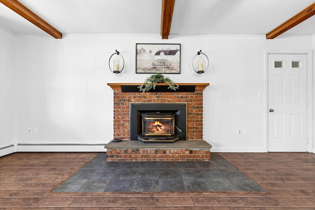
<svg viewBox="0 0 315 210"><path fill-rule="evenodd" d="M103 144L113 138L113 91L107 83L142 82L135 73L136 43L180 43L175 82L209 82L204 91L204 140L212 151L266 149L266 51L312 51L312 36L266 40L264 35L20 35L16 37L16 141L25 144ZM120 74L108 68L115 50ZM190 62L202 50L210 69L196 75ZM258 97L258 91L263 97ZM315 92L315 91L314 91ZM313 116L314 119L314 116ZM28 135L27 128L37 128ZM237 135L247 128L247 135Z"/></svg>

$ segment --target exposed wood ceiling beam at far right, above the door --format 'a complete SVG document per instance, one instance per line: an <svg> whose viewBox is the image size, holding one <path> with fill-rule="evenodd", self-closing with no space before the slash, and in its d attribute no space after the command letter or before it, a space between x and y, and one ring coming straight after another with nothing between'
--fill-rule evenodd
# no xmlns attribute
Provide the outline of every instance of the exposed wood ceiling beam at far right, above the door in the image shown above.
<svg viewBox="0 0 315 210"><path fill-rule="evenodd" d="M313 15L315 15L315 3L311 4L310 6L303 9L301 12L297 13L296 15L285 21L283 24L275 28L274 30L267 33L266 38L273 39L278 35L283 34L287 30L293 28L294 26L302 23L303 21L312 17Z"/></svg>

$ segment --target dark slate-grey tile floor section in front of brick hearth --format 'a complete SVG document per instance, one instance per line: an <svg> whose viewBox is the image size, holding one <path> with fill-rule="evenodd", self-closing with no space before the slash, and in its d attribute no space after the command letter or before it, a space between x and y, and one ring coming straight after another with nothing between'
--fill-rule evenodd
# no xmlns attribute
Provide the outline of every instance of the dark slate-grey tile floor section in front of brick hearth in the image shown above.
<svg viewBox="0 0 315 210"><path fill-rule="evenodd" d="M265 192L218 153L210 162L106 162L106 153L53 192Z"/></svg>

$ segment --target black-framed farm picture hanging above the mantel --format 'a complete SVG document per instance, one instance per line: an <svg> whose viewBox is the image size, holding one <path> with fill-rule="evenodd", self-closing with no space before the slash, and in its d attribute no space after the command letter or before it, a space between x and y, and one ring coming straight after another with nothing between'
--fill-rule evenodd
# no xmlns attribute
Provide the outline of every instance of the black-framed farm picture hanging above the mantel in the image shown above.
<svg viewBox="0 0 315 210"><path fill-rule="evenodd" d="M136 44L136 73L181 73L181 44Z"/></svg>

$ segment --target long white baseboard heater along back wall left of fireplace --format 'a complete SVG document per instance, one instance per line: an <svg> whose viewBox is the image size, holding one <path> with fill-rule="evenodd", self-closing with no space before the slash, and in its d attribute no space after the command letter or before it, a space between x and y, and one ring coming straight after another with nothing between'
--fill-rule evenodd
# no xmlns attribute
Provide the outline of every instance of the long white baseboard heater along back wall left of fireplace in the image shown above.
<svg viewBox="0 0 315 210"><path fill-rule="evenodd" d="M17 152L105 152L105 144L17 144Z"/></svg>

